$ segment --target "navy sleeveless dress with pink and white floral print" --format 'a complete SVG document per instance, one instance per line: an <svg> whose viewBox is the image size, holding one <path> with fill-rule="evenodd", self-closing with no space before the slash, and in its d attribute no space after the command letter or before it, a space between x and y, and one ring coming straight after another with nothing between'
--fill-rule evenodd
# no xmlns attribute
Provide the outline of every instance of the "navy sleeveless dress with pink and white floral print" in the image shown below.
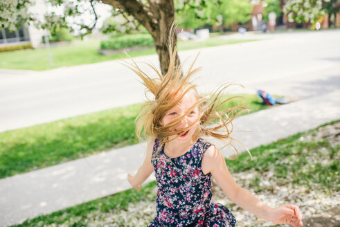
<svg viewBox="0 0 340 227"><path fill-rule="evenodd" d="M164 145L161 149L159 145L156 139L152 152L157 215L148 226L235 226L233 214L222 204L211 202L211 174L202 172L202 158L211 143L199 138L177 158L166 156Z"/></svg>

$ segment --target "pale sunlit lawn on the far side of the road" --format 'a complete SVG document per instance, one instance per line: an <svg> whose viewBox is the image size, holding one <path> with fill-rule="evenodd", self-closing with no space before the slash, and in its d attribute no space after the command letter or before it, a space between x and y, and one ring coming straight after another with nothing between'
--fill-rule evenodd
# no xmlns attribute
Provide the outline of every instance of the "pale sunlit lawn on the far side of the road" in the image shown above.
<svg viewBox="0 0 340 227"><path fill-rule="evenodd" d="M183 51L193 48L204 48L208 46L219 46L250 41L253 40L225 40L218 37L212 37L211 39L207 39L204 42L178 42L178 46L179 51ZM70 46L52 47L51 55L53 58L53 67L50 66L46 48L0 53L0 69L42 71L63 66L91 64L108 60L123 59L127 57L127 55L124 53L117 53L114 55L100 55L100 53L98 53L99 46L99 39L89 39L85 41L75 40ZM129 52L131 57L153 54L156 54L154 48Z"/></svg>

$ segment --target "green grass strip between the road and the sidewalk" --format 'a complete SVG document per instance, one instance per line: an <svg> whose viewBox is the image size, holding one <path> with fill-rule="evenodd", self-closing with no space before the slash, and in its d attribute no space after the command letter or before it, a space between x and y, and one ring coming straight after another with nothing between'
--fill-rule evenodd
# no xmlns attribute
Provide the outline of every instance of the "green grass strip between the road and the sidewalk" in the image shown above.
<svg viewBox="0 0 340 227"><path fill-rule="evenodd" d="M267 108L255 95L230 100L224 108L241 102L251 112ZM138 143L134 119L140 107L118 107L0 133L0 178Z"/></svg>

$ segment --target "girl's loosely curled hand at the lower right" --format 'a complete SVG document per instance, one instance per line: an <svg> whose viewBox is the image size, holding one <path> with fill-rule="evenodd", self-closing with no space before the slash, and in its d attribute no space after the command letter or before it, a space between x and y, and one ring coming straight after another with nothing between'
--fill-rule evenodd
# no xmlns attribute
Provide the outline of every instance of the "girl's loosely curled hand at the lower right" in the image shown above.
<svg viewBox="0 0 340 227"><path fill-rule="evenodd" d="M293 204L287 203L278 208L273 208L269 213L269 217L269 220L275 224L290 224L294 227L303 226L300 209Z"/></svg>

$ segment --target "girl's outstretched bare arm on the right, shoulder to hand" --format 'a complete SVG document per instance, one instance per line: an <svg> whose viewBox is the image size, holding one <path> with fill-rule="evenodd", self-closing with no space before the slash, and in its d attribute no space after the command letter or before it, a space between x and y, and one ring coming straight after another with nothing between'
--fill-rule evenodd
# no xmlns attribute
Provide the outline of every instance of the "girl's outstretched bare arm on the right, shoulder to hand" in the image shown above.
<svg viewBox="0 0 340 227"><path fill-rule="evenodd" d="M251 192L241 188L234 181L226 167L224 157L216 147L211 146L206 150L202 160L202 170L204 174L210 172L226 196L244 210L268 221L273 221L276 224L290 224L298 227L296 224L298 223L300 226L303 226L301 221L302 215L298 206L284 204L278 208L270 208L265 203L256 199Z"/></svg>

